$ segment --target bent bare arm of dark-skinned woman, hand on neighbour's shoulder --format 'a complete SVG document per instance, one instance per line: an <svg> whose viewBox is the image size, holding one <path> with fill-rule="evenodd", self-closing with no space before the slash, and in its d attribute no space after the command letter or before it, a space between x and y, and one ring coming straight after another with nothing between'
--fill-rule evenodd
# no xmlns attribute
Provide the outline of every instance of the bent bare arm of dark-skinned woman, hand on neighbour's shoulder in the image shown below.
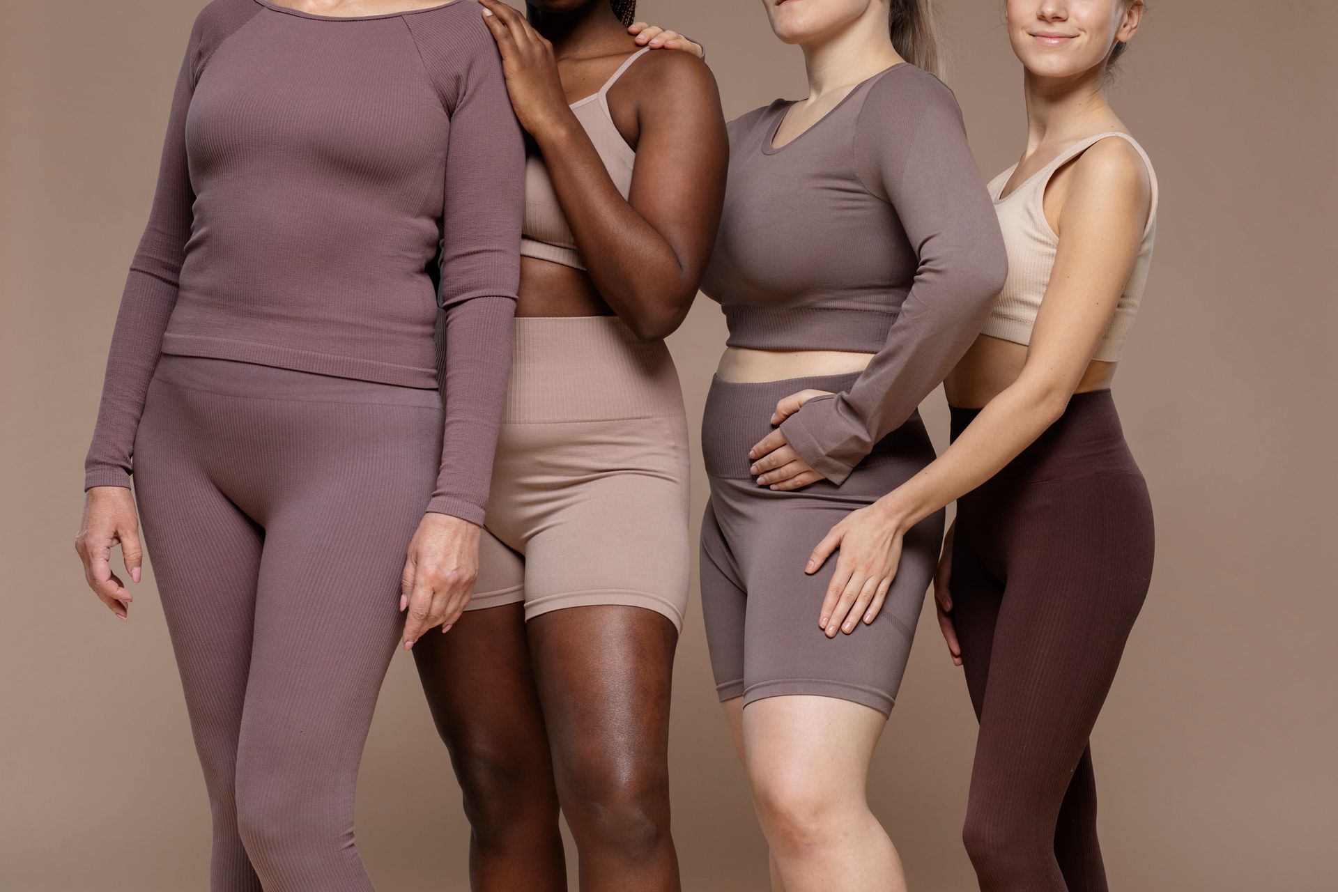
<svg viewBox="0 0 1338 892"><path fill-rule="evenodd" d="M729 140L714 78L674 52L638 62L618 84L638 98L637 167L624 199L566 104L551 44L508 7L483 3L511 102L595 289L640 337L665 337L696 297L724 203Z"/></svg>

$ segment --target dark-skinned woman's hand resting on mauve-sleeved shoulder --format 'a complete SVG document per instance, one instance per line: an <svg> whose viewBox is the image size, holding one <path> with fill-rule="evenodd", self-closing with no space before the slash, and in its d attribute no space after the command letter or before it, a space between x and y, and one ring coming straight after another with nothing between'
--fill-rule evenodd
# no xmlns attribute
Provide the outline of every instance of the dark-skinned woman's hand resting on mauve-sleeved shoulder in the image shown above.
<svg viewBox="0 0 1338 892"><path fill-rule="evenodd" d="M479 3L483 5L483 23L502 52L507 94L520 126L538 136L546 128L574 119L562 90L553 44L502 0Z"/></svg>

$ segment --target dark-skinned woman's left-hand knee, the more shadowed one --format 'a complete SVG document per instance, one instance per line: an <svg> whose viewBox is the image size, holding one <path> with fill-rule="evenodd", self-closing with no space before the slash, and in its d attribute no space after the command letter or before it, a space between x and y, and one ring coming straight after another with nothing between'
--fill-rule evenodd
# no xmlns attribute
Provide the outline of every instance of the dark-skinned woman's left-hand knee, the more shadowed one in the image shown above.
<svg viewBox="0 0 1338 892"><path fill-rule="evenodd" d="M480 844L500 843L537 825L557 829L558 802L547 758L476 748L455 756L455 774L464 814Z"/></svg>

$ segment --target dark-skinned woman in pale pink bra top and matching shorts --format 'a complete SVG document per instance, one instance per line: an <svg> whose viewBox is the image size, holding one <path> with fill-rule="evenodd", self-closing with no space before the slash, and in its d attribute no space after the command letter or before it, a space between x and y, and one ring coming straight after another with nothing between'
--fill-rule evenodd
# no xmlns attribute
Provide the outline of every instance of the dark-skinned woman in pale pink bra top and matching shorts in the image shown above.
<svg viewBox="0 0 1338 892"><path fill-rule="evenodd" d="M472 825L475 889L680 888L673 657L688 598L688 435L664 337L716 238L714 80L648 53L626 0L482 0L529 134L516 340L479 580L419 642Z"/></svg>

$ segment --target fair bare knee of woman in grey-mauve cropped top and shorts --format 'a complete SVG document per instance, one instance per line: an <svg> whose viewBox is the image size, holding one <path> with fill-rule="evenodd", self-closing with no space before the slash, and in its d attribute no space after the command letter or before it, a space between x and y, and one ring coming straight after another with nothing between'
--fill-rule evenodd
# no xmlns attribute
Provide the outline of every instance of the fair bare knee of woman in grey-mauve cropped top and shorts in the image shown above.
<svg viewBox="0 0 1338 892"><path fill-rule="evenodd" d="M804 860L828 847L843 830L848 804L818 777L777 772L749 778L757 820L767 844L785 860Z"/></svg>

